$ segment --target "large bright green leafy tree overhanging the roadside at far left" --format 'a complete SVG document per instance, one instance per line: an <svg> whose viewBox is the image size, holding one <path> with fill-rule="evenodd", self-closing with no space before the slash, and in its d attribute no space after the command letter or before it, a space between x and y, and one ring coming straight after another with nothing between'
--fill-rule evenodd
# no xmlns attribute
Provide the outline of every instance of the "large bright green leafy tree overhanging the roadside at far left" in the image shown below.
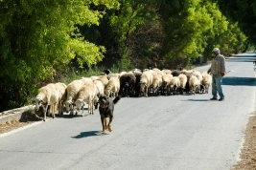
<svg viewBox="0 0 256 170"><path fill-rule="evenodd" d="M0 110L21 106L35 95L35 82L52 76L77 56L82 66L96 64L105 48L86 40L78 25L99 25L117 0L0 1Z"/></svg>

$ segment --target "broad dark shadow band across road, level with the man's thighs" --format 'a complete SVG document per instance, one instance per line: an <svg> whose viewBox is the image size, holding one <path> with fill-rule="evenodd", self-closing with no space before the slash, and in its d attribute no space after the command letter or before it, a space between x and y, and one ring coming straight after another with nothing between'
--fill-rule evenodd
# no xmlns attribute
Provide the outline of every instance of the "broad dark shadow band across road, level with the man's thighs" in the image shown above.
<svg viewBox="0 0 256 170"><path fill-rule="evenodd" d="M255 77L237 77L237 76L224 76L222 78L222 85L229 86L255 86Z"/></svg>

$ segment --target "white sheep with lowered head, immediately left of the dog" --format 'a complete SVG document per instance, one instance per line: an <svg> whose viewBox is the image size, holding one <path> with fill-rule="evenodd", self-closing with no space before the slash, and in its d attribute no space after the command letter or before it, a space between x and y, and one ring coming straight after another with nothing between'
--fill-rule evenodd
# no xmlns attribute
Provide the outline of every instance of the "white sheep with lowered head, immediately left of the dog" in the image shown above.
<svg viewBox="0 0 256 170"><path fill-rule="evenodd" d="M98 101L97 87L93 82L87 81L81 87L77 100L75 101L78 112L82 109L81 116L83 117L83 107L85 103L88 104L88 113L94 114L94 103Z"/></svg>

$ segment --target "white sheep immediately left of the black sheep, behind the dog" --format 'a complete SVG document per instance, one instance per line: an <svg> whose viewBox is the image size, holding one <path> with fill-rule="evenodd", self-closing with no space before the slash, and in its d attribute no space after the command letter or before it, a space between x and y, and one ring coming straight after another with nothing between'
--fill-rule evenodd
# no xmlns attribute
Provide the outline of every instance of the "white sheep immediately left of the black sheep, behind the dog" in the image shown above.
<svg viewBox="0 0 256 170"><path fill-rule="evenodd" d="M118 96L120 90L120 81L118 77L111 77L105 86L106 96Z"/></svg>

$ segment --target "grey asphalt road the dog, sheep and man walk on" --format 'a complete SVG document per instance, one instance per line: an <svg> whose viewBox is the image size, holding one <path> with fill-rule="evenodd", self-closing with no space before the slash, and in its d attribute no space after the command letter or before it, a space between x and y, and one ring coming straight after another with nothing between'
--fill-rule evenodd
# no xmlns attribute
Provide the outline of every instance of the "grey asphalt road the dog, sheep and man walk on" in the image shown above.
<svg viewBox="0 0 256 170"><path fill-rule="evenodd" d="M253 55L226 60L235 72L223 78L225 101L210 94L121 98L107 135L98 110L1 135L0 169L230 169L255 111Z"/></svg>

